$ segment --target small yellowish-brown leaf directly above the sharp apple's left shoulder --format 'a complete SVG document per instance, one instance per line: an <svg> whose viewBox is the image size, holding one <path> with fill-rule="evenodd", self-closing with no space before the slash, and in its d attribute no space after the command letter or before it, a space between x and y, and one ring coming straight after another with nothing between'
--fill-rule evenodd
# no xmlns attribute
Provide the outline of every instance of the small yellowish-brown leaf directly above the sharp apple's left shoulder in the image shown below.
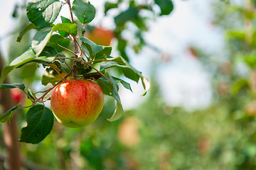
<svg viewBox="0 0 256 170"><path fill-rule="evenodd" d="M60 77L61 75L61 77ZM49 72L46 72L45 74L43 74L42 79L41 79L41 83L46 86L47 84L55 84L58 81L62 80L63 77L65 77L66 75L68 75L67 72L65 72L63 70L63 72L61 74L50 74Z"/></svg>

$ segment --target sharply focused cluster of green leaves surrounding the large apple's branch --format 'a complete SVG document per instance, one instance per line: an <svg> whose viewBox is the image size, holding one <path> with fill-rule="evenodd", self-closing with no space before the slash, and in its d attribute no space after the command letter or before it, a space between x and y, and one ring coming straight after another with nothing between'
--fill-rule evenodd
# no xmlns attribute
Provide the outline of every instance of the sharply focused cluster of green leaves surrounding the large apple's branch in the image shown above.
<svg viewBox="0 0 256 170"><path fill-rule="evenodd" d="M82 27L78 27L74 23L73 16L71 16L71 20L61 16L62 23L53 24L65 4L70 6L70 11L75 14L80 24L82 23ZM112 47L97 45L82 36L85 33L83 27L95 18L96 13L95 7L89 1L75 0L72 8L68 0L65 3L58 0L33 1L28 3L26 11L27 18L31 23L21 31L17 41L20 42L23 35L31 29L36 29L38 32L33 37L31 47L13 60L9 66L4 67L0 78L0 89L21 89L32 101L32 105L27 106L31 108L26 113L28 125L21 130L21 142L36 144L50 133L54 122L53 113L46 106L37 103L50 100L47 94L66 79L76 77L91 79L99 84L105 95L114 97L117 101L117 107L112 117L107 119L109 121L119 119L123 113L117 84L121 83L124 88L132 91L129 83L117 77L112 77L108 73L109 69L119 69L125 77L136 82L141 79L145 89L143 95L146 94L149 89L149 81L142 76L141 72L132 67L123 57L111 57ZM74 42L74 50L68 48L70 41ZM70 52L73 57L66 57L65 52ZM73 63L72 66L68 64L70 61ZM46 73L43 74L41 79L42 84L53 84L53 87L43 91L43 95L39 98L36 97L36 94L42 93L41 91L33 93L30 89L26 89L24 84L2 84L11 70L23 67L23 65L31 62L43 64L43 67L46 68ZM100 70L95 68L95 64L100 64ZM1 115L0 123L9 122L14 115L14 111L21 108L18 105Z"/></svg>

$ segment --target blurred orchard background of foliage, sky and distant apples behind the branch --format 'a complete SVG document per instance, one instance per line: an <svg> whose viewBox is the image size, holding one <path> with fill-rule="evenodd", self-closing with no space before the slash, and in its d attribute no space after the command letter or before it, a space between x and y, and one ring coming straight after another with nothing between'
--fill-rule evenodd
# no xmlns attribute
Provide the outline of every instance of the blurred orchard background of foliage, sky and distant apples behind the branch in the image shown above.
<svg viewBox="0 0 256 170"><path fill-rule="evenodd" d="M15 42L28 25L27 2L0 2L4 64L30 47L33 31ZM85 36L111 45L112 56L129 60L151 89L141 96L141 84L124 77L133 93L120 86L121 119L105 120L115 108L105 96L92 125L71 129L56 121L43 142L21 143L23 169L256 169L256 1L172 0L167 13L157 1L90 2L97 13ZM60 16L69 18L65 6ZM15 69L9 81L43 90L37 68ZM11 96L27 105L17 89ZM16 111L18 131L26 111Z"/></svg>

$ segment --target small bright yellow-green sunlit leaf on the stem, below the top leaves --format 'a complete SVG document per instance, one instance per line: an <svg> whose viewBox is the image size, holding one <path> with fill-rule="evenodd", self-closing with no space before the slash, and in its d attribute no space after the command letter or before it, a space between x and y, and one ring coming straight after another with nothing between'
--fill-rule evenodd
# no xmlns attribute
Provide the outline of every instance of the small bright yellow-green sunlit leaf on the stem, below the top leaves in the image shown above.
<svg viewBox="0 0 256 170"><path fill-rule="evenodd" d="M75 23L58 23L56 26L53 26L53 31L65 32L75 36L78 34L78 26Z"/></svg>

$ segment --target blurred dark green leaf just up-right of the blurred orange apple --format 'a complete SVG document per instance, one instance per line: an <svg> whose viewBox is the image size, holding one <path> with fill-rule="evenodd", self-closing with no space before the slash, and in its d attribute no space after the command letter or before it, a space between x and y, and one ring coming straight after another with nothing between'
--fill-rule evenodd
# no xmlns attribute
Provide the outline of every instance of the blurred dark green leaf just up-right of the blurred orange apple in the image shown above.
<svg viewBox="0 0 256 170"><path fill-rule="evenodd" d="M129 7L126 11L119 13L118 16L114 17L114 23L121 24L126 21L138 18L139 9L136 7Z"/></svg>

